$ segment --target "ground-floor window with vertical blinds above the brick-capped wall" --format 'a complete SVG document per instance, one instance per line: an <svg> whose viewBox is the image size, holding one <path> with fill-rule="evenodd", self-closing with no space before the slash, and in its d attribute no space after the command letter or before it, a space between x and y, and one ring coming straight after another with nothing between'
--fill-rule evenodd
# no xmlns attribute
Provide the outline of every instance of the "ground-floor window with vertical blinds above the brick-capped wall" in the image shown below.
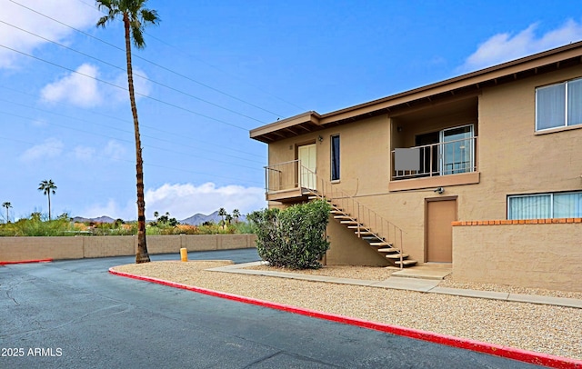
<svg viewBox="0 0 582 369"><path fill-rule="evenodd" d="M582 191L507 197L507 219L582 217Z"/></svg>

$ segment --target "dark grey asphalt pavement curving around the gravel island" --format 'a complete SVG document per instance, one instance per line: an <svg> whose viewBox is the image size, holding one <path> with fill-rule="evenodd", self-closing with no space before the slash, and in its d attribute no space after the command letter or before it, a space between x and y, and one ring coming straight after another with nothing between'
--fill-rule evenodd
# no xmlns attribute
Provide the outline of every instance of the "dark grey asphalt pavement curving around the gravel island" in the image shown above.
<svg viewBox="0 0 582 369"><path fill-rule="evenodd" d="M258 257L246 249L190 253L189 259ZM0 267L0 367L537 367L107 273L133 261Z"/></svg>

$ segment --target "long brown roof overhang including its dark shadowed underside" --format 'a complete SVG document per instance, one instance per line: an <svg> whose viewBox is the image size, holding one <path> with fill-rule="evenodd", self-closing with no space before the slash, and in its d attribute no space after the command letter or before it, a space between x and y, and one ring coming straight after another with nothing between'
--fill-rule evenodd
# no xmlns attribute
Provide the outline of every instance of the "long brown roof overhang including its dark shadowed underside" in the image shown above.
<svg viewBox="0 0 582 369"><path fill-rule="evenodd" d="M476 95L484 87L506 84L575 65L582 65L582 41L325 115L310 111L292 116L253 129L250 137L268 144L370 116L392 115L411 107L434 105L451 97Z"/></svg>

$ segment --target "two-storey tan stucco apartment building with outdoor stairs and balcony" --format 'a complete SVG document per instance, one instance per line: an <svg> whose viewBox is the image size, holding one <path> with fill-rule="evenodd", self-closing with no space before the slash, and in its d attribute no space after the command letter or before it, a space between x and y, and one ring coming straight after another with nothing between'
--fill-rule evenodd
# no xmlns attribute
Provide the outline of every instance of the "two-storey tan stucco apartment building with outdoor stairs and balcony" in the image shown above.
<svg viewBox="0 0 582 369"><path fill-rule="evenodd" d="M250 135L269 206L336 204L327 264L582 291L582 42Z"/></svg>

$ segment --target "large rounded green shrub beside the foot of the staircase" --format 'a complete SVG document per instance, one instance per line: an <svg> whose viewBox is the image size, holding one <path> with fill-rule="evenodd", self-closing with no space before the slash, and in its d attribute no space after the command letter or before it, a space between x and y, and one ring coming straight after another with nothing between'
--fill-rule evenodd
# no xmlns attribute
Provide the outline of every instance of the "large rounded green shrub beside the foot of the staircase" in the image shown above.
<svg viewBox="0 0 582 369"><path fill-rule="evenodd" d="M317 269L329 249L324 238L331 207L318 200L285 210L266 209L248 215L259 256L274 266Z"/></svg>

